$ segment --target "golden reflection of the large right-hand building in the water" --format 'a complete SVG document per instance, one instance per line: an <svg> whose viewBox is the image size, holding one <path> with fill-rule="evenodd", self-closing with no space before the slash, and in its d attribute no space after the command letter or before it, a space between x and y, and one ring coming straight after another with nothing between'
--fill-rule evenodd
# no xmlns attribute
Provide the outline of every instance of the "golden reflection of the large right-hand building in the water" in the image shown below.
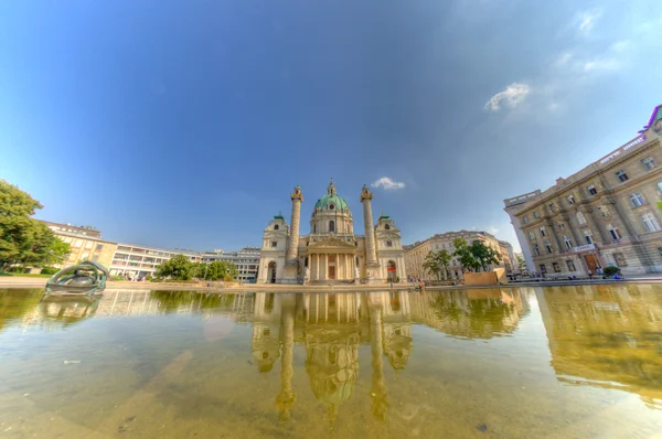
<svg viewBox="0 0 662 439"><path fill-rule="evenodd" d="M655 285L536 290L557 379L628 390L662 408L662 301Z"/></svg>

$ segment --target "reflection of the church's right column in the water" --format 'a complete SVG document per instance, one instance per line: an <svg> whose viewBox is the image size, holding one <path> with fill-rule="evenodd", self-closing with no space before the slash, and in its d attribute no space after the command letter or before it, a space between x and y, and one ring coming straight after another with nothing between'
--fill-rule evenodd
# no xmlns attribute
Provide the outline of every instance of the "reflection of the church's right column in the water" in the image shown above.
<svg viewBox="0 0 662 439"><path fill-rule="evenodd" d="M386 385L384 384L384 362L382 347L382 307L378 302L370 303L370 349L372 353L372 387L370 389L371 410L378 419L386 418Z"/></svg>

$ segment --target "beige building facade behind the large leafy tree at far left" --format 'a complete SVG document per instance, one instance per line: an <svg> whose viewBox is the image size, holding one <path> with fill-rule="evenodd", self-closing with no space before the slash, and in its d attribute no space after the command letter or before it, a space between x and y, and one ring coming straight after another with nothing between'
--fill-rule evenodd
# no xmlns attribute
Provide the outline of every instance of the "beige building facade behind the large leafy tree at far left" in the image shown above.
<svg viewBox="0 0 662 439"><path fill-rule="evenodd" d="M71 224L43 223L63 242L71 245L70 253L58 267L66 267L84 260L93 260L108 267L117 248L117 243L102 238L102 233L89 226L73 226Z"/></svg>

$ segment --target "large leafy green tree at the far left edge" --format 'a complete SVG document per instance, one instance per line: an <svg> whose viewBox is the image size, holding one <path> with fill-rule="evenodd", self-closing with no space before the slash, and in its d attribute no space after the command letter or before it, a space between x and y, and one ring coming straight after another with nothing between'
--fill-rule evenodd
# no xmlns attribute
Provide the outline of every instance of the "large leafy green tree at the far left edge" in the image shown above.
<svg viewBox="0 0 662 439"><path fill-rule="evenodd" d="M42 204L26 192L0 180L0 268L7 265L44 266L61 264L71 253L34 211Z"/></svg>

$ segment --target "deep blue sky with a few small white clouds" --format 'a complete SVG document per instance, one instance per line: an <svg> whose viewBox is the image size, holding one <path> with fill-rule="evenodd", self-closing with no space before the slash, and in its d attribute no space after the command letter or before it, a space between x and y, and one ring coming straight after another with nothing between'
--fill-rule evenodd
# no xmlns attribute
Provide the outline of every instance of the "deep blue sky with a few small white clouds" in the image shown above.
<svg viewBox="0 0 662 439"><path fill-rule="evenodd" d="M261 245L331 178L405 244L637 136L662 104L656 0L0 2L0 179L110 240Z"/></svg>

